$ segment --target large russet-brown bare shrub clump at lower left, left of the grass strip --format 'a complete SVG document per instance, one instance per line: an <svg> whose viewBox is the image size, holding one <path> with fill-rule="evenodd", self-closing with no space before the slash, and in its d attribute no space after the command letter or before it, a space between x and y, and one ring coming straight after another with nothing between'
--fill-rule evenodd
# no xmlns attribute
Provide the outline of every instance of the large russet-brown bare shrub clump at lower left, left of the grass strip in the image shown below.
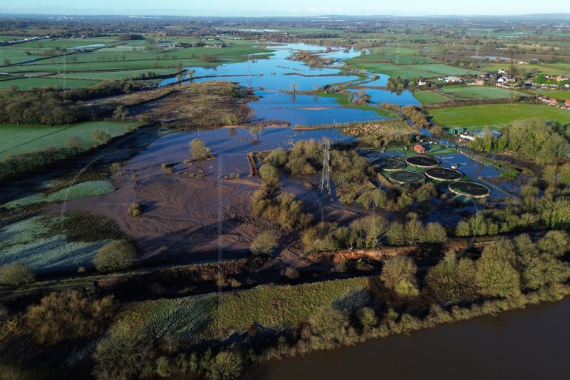
<svg viewBox="0 0 570 380"><path fill-rule="evenodd" d="M53 292L28 309L26 327L39 344L95 337L115 314L113 297L97 299L79 290Z"/></svg>

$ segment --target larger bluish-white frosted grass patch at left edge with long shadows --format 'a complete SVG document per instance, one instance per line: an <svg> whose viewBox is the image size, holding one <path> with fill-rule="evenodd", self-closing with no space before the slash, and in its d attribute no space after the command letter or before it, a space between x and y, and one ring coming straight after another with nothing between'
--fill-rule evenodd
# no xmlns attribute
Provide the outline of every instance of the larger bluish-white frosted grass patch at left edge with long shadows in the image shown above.
<svg viewBox="0 0 570 380"><path fill-rule="evenodd" d="M65 235L53 234L46 218L32 217L0 229L0 265L23 262L39 273L91 267L95 253L112 241L69 242Z"/></svg>

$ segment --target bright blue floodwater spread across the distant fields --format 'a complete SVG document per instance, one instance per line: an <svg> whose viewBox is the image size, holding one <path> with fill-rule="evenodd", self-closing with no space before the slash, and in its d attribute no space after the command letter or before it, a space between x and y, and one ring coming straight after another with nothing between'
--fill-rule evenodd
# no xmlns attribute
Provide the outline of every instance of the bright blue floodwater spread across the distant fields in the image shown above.
<svg viewBox="0 0 570 380"><path fill-rule="evenodd" d="M269 58L257 58L253 55L249 61L228 63L213 68L191 67L193 80L231 81L240 86L252 87L261 99L249 103L253 108L255 120L282 120L291 125L317 125L350 123L358 121L383 120L383 116L373 111L358 110L340 106L334 98L323 96L299 95L284 92L314 91L315 88L335 86L338 84L362 83L362 87L385 86L388 76L380 75L375 81L361 81L358 76L336 68L343 65L343 60L353 58L361 53L351 50L334 49L326 51L323 46L291 43L269 46L274 49ZM295 51L304 50L318 54L322 58L333 58L334 67L311 68L301 61L289 59ZM185 80L190 80L185 77ZM160 83L165 86L176 83L176 78L168 78ZM366 88L371 96L371 103L394 103L400 106L418 105L420 102L410 91L393 93L390 91Z"/></svg>

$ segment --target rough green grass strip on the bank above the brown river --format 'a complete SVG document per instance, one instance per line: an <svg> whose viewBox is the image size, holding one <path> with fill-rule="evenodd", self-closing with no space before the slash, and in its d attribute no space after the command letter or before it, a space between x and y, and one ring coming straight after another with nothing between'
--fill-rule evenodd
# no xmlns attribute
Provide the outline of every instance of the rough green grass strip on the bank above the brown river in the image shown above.
<svg viewBox="0 0 570 380"><path fill-rule="evenodd" d="M160 299L133 304L125 319L157 337L170 334L190 342L225 338L254 324L286 329L321 307L350 309L366 302L367 278L341 279L299 286L261 286L242 292ZM200 332L202 337L200 338Z"/></svg>

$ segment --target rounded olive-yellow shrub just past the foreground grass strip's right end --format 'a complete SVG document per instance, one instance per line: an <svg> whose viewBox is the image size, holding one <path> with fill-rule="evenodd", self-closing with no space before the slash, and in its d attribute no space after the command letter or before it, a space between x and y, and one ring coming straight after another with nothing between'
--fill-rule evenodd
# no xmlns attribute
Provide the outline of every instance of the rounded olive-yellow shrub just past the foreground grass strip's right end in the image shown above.
<svg viewBox="0 0 570 380"><path fill-rule="evenodd" d="M415 296L420 293L415 279L418 267L410 257L397 256L384 262L380 279L386 287L402 296Z"/></svg>

